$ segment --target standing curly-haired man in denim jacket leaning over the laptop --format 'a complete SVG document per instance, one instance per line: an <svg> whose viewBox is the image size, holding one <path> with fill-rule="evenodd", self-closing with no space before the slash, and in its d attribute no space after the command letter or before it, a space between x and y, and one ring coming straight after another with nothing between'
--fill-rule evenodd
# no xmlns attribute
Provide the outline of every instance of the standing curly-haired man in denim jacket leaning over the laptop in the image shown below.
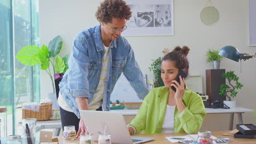
<svg viewBox="0 0 256 144"><path fill-rule="evenodd" d="M135 89L139 99L149 92L130 44L121 37L131 11L123 0L105 0L98 7L100 25L75 37L69 69L60 83L58 104L62 127L86 128L79 110L109 111L110 94L121 73Z"/></svg>

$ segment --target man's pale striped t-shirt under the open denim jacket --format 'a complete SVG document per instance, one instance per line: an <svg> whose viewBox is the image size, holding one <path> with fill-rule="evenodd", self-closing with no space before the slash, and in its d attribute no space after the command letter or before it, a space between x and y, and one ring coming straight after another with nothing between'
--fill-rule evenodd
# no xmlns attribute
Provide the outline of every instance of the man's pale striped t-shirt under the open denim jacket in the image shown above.
<svg viewBox="0 0 256 144"><path fill-rule="evenodd" d="M107 75L109 73L109 63L110 63L110 50L109 47L104 46L105 53L102 57L102 67L101 67L101 76L100 76L100 82L98 83L98 87L95 91L94 97L91 99L91 102L89 103L89 110L97 110L102 105L102 99L105 91L105 87L107 86ZM105 93L106 94L106 93ZM59 106L66 111L73 112L70 107L67 105L66 101L62 98L61 93L59 93L58 98L58 104Z"/></svg>

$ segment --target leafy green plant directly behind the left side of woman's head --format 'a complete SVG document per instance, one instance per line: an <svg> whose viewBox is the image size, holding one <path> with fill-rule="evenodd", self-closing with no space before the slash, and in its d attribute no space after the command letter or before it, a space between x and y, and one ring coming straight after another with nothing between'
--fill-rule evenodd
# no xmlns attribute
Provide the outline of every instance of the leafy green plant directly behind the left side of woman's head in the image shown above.
<svg viewBox="0 0 256 144"><path fill-rule="evenodd" d="M153 63L151 67L149 67L150 71L153 71L154 78L155 78L155 86L154 87L162 87L164 86L164 82L162 82L161 78L161 64L162 58L158 57L157 59L152 59Z"/></svg>

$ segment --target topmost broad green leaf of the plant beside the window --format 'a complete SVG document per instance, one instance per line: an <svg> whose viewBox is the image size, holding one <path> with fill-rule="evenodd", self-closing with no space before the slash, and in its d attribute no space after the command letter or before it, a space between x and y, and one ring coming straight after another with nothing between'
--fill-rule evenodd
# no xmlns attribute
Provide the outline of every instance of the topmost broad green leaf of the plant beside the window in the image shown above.
<svg viewBox="0 0 256 144"><path fill-rule="evenodd" d="M55 57L61 51L62 39L60 35L57 35L53 40L50 41L48 45L49 57Z"/></svg>

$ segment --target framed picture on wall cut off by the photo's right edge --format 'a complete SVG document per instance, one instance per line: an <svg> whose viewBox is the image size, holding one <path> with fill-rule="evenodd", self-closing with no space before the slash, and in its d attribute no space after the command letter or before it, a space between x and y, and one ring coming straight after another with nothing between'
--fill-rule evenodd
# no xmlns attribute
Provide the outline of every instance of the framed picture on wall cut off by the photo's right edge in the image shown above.
<svg viewBox="0 0 256 144"><path fill-rule="evenodd" d="M249 46L256 46L256 1L248 0Z"/></svg>

